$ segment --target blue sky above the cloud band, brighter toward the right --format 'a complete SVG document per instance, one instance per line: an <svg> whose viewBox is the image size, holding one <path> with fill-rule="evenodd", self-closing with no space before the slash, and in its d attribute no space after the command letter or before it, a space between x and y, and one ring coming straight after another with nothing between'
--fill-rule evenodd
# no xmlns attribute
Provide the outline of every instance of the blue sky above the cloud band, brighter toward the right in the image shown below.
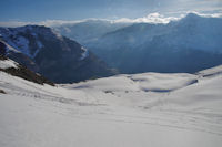
<svg viewBox="0 0 222 147"><path fill-rule="evenodd" d="M0 21L141 18L159 12L221 12L222 0L1 0Z"/></svg>

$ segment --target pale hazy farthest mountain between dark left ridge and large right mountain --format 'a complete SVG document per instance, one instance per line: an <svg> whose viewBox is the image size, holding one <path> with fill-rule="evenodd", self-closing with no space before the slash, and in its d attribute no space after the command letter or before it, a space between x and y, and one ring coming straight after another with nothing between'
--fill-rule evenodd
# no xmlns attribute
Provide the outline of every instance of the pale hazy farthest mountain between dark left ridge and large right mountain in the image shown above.
<svg viewBox="0 0 222 147"><path fill-rule="evenodd" d="M75 23L64 23L54 25L53 28L64 36L69 36L88 46L90 42L97 41L100 36L108 32L130 25L131 23L112 22L109 20L85 20Z"/></svg>

